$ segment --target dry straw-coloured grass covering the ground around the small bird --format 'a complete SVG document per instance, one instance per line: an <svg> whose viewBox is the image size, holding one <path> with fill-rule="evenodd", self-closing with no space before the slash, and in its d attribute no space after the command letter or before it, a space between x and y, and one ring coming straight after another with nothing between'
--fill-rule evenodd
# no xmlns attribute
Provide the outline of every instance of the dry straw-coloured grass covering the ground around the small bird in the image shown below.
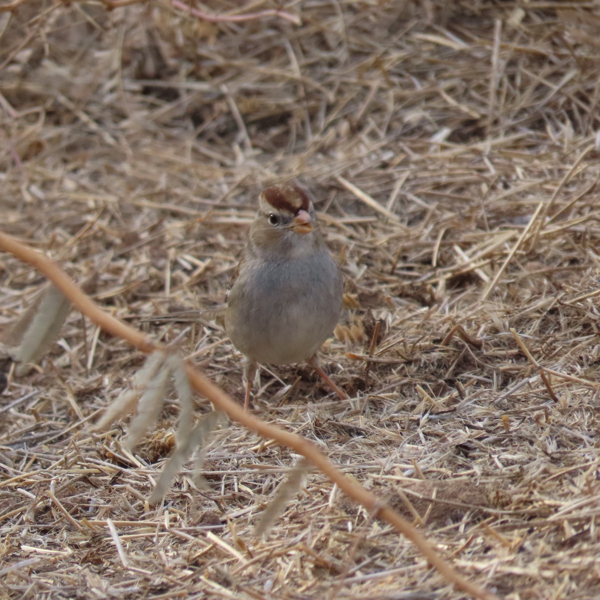
<svg viewBox="0 0 600 600"><path fill-rule="evenodd" d="M97 273L95 298L149 334L185 331L184 353L241 398L218 326L152 317L222 302L257 191L298 178L364 347L323 350L353 400L278 368L256 412L317 442L500 597L598 598L600 9L284 8L303 25L154 3L0 14L2 229L79 281ZM1 260L8 323L42 282ZM377 319L371 358L346 356L370 353ZM73 313L43 371L2 396L7 598L464 597L318 473L258 541L295 457L235 425L206 452L208 490L185 473L151 508L176 402L133 453L125 423L91 430L141 364Z"/></svg>

